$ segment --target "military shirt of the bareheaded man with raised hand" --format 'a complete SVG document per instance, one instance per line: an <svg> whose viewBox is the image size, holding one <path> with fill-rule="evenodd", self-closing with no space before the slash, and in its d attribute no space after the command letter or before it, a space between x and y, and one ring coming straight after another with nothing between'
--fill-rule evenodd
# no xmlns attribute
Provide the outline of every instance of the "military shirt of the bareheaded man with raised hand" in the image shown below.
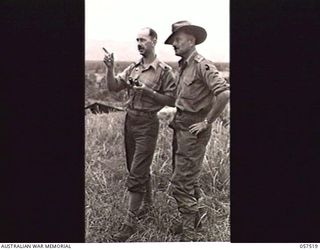
<svg viewBox="0 0 320 250"><path fill-rule="evenodd" d="M147 67L144 66L142 59L129 65L122 73L116 76L117 84L120 88L128 87L129 78L137 79L154 91L174 97L176 91L175 76L172 68L166 63L156 58ZM157 112L163 108L163 105L156 102L150 95L135 91L129 88L129 103L131 109Z"/></svg>

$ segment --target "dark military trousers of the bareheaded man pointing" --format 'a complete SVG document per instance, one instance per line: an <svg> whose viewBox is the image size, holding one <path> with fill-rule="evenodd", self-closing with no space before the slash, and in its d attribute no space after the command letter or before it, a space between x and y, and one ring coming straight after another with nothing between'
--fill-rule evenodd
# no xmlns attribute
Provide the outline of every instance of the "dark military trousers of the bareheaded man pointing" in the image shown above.
<svg viewBox="0 0 320 250"><path fill-rule="evenodd" d="M124 137L129 172L127 188L131 192L146 192L158 131L159 120L156 113L128 110Z"/></svg>

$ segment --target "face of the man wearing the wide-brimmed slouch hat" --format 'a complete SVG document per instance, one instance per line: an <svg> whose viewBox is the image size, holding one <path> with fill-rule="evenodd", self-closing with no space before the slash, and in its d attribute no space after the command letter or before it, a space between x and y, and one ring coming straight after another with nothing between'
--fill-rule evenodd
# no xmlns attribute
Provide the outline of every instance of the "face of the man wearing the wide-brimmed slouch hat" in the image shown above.
<svg viewBox="0 0 320 250"><path fill-rule="evenodd" d="M177 56L187 55L194 46L194 37L184 32L178 32L173 39L172 46Z"/></svg>

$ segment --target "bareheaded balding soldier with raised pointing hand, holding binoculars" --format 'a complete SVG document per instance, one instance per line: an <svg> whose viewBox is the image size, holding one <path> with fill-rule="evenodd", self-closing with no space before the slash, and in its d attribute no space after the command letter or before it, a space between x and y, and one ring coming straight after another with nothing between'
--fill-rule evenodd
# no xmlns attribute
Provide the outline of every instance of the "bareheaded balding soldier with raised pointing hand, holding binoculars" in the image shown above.
<svg viewBox="0 0 320 250"><path fill-rule="evenodd" d="M176 88L172 69L155 54L157 33L151 28L144 28L136 40L142 58L116 77L113 53L105 50L104 57L109 89L128 89L130 96L125 118L129 205L120 232L114 237L118 242L126 241L136 231L138 217L151 209L150 165L159 130L157 112L166 105L174 106Z"/></svg>

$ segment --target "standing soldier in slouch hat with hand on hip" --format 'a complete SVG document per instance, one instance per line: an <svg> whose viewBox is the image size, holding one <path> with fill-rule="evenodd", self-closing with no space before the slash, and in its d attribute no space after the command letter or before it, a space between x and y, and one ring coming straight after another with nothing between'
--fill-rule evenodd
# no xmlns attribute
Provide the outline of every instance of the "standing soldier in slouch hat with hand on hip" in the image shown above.
<svg viewBox="0 0 320 250"><path fill-rule="evenodd" d="M165 41L181 57L175 102L177 113L170 124L174 129L171 182L182 218L180 227L173 227L173 231L181 231L181 241L198 240L196 229L203 217L199 216L201 165L211 136L211 123L229 100L227 82L213 63L196 51L195 46L206 37L204 28L180 21L172 25L172 34Z"/></svg>

